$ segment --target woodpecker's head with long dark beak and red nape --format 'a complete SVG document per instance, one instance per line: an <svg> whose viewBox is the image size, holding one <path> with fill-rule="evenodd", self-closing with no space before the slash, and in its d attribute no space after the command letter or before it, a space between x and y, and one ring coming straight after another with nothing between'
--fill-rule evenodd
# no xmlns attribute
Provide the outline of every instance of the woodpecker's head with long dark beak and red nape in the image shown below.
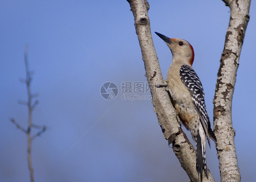
<svg viewBox="0 0 256 182"><path fill-rule="evenodd" d="M163 34L159 34L155 32L161 39L163 39L166 44L171 49L173 54L173 60L183 61L192 66L194 61L194 49L192 45L189 44L188 41L184 39L170 39Z"/></svg>

